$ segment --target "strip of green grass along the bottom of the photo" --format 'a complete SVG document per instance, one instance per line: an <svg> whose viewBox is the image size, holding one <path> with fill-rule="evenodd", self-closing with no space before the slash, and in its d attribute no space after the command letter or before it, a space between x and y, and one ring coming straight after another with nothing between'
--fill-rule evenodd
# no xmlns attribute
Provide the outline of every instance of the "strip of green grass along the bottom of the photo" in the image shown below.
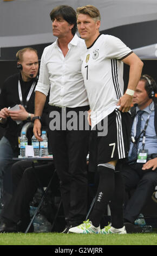
<svg viewBox="0 0 157 256"><path fill-rule="evenodd" d="M157 233L102 235L61 233L5 233L0 245L157 245Z"/></svg>

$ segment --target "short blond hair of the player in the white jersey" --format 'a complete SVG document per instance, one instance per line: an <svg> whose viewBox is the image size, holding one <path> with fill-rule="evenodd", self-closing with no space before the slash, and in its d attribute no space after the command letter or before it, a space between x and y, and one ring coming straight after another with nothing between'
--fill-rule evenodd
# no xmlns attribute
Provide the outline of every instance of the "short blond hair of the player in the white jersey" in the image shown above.
<svg viewBox="0 0 157 256"><path fill-rule="evenodd" d="M82 6L82 7L78 7L76 9L76 16L78 16L78 14L87 14L91 18L93 18L95 21L101 20L100 11L96 7L94 7L93 5L90 5L90 4Z"/></svg>

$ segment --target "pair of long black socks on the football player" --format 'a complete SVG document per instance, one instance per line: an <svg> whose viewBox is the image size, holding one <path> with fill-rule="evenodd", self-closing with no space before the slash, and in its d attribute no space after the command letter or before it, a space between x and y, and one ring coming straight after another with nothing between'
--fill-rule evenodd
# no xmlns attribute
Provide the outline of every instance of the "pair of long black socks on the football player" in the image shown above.
<svg viewBox="0 0 157 256"><path fill-rule="evenodd" d="M98 166L100 174L99 186L97 188L96 200L89 220L95 227L100 225L107 205L110 206L112 226L123 227L123 180L120 172L115 172L112 164Z"/></svg>

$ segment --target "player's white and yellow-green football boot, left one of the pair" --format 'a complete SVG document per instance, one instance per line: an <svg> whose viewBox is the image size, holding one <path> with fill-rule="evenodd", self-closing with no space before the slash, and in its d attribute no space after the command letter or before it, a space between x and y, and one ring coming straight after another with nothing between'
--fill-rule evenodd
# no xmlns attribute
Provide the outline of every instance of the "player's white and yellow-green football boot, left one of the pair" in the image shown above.
<svg viewBox="0 0 157 256"><path fill-rule="evenodd" d="M77 233L77 234L99 234L100 233L100 225L98 228L94 227L91 221L83 221L81 225L77 227L73 227L69 229L69 233Z"/></svg>

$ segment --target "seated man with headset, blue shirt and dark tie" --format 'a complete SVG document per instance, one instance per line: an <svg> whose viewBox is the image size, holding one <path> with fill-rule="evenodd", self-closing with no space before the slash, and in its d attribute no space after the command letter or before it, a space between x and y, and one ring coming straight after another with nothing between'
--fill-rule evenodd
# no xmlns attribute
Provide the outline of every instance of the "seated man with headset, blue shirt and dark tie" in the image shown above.
<svg viewBox="0 0 157 256"><path fill-rule="evenodd" d="M142 75L133 96L128 159L121 169L126 191L135 189L124 210L129 232L135 231L132 224L157 185L157 105L153 100L156 92L153 78Z"/></svg>

